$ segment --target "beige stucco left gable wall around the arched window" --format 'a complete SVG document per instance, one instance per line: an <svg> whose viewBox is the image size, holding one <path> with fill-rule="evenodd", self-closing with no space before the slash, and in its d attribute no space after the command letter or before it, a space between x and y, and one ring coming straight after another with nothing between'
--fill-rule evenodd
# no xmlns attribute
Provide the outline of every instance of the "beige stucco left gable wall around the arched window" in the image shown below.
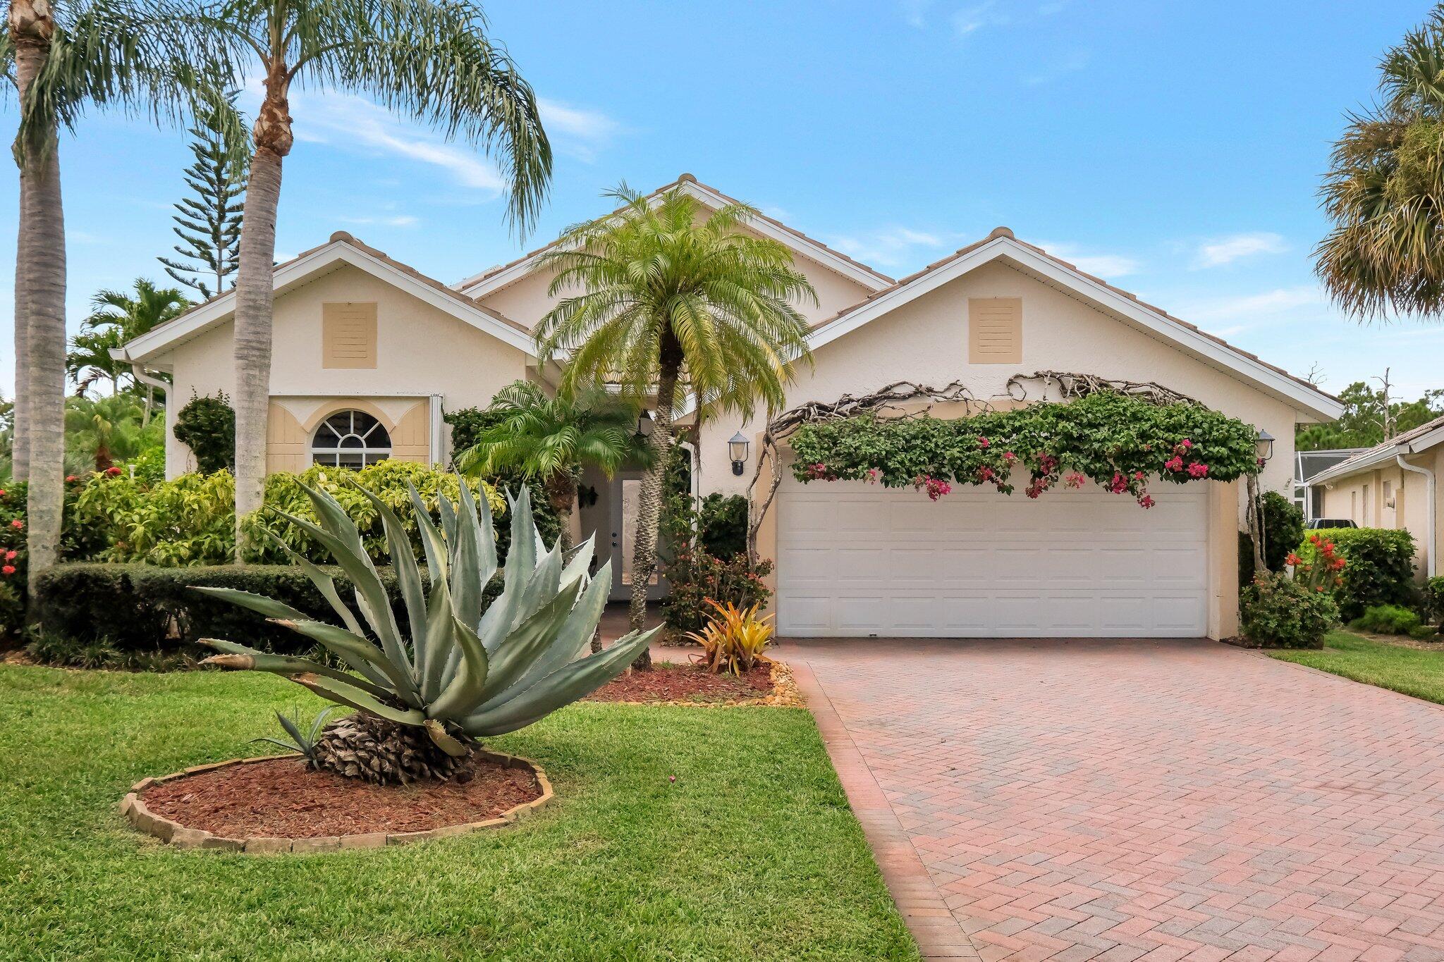
<svg viewBox="0 0 1444 962"><path fill-rule="evenodd" d="M328 301L375 301L375 368L322 368L321 306ZM341 267L277 297L273 323L271 395L297 408L292 411L297 424L271 425L273 470L308 464L309 457L302 460L300 454L309 430L326 414L358 407L354 401L388 411L381 420L399 457L426 460L427 395L442 395L448 411L484 407L497 388L527 374L523 350L354 267ZM170 431L179 407L191 400L192 389L232 392L231 332L227 322L156 362L175 375L175 404L166 408L166 470L172 476L195 467L189 449Z"/></svg>

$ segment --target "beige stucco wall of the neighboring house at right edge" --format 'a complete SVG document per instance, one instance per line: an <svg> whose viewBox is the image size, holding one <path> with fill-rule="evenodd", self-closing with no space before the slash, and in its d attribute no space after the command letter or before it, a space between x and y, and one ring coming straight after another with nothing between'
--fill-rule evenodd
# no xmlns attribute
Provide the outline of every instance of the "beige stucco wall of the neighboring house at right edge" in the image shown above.
<svg viewBox="0 0 1444 962"><path fill-rule="evenodd" d="M1438 479L1444 470L1444 449L1431 449L1422 454L1411 454L1411 464L1427 467ZM1385 505L1383 482L1393 487L1395 506ZM1367 515L1365 513L1365 486L1367 486ZM1430 565L1430 542L1444 544L1440 521L1444 519L1444 485L1434 487L1434 538L1428 537L1428 479L1417 472L1405 472L1396 462L1376 464L1369 470L1347 475L1326 482L1324 518L1347 518L1360 528L1406 528L1414 535L1415 577L1424 578ZM1435 560L1437 564L1437 560Z"/></svg>

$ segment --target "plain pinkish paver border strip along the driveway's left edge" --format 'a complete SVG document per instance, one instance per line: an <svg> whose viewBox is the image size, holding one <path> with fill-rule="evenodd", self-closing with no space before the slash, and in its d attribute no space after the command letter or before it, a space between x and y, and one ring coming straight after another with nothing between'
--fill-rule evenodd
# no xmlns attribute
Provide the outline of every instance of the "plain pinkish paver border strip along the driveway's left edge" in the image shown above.
<svg viewBox="0 0 1444 962"><path fill-rule="evenodd" d="M908 932L917 940L923 958L928 961L982 958L943 901L943 894L918 858L913 839L902 831L902 824L898 822L897 813L812 668L797 658L796 652L791 653L790 663L797 688L807 700L807 708L817 721L832 766L848 793L852 812L862 822L862 834L882 871L882 881L892 893L892 900L902 913Z"/></svg>

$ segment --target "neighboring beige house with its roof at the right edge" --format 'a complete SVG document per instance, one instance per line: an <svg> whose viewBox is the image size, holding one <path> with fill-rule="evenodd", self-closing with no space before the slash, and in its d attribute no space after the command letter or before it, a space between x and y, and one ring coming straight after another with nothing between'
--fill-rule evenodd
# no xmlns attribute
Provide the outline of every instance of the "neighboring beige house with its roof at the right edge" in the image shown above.
<svg viewBox="0 0 1444 962"><path fill-rule="evenodd" d="M1308 482L1317 518L1347 518L1360 528L1408 528L1419 577L1434 577L1444 503L1444 417L1357 451Z"/></svg>

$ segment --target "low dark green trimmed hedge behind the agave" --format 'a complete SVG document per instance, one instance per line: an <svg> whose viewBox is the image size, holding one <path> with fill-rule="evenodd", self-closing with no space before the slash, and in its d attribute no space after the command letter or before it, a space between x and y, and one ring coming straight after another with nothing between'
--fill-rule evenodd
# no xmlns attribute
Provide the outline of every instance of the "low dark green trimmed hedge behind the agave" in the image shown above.
<svg viewBox="0 0 1444 962"><path fill-rule="evenodd" d="M336 580L342 599L354 588L339 568L326 568ZM397 622L406 625L396 577L378 568L391 597ZM116 649L155 649L172 625L179 637L173 643L195 643L202 637L222 637L276 653L305 653L312 642L296 632L271 625L254 612L212 599L192 586L211 586L253 591L283 601L290 607L335 625L335 612L299 567L282 564L235 564L196 568L159 568L147 564L59 564L39 578L35 622L42 635L95 642L107 639ZM490 604L501 591L494 578L484 593Z"/></svg>

